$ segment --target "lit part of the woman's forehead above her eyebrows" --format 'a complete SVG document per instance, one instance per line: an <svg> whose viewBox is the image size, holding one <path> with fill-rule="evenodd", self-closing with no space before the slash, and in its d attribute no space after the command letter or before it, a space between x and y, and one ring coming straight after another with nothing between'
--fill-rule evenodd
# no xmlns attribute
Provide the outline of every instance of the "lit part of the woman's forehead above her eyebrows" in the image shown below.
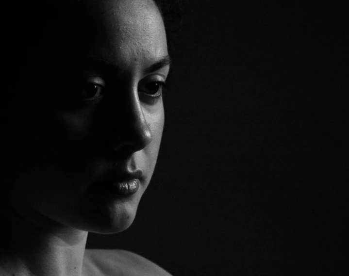
<svg viewBox="0 0 349 276"><path fill-rule="evenodd" d="M164 23L152 0L99 1L91 8L90 55L122 65L167 54Z"/></svg>

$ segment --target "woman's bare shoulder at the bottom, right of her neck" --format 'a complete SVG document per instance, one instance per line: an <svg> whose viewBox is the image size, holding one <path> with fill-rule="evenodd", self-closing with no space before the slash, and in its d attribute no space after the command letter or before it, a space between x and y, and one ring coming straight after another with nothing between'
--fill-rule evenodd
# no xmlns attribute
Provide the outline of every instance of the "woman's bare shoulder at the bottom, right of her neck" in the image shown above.
<svg viewBox="0 0 349 276"><path fill-rule="evenodd" d="M126 250L86 249L86 276L171 276L152 261Z"/></svg>

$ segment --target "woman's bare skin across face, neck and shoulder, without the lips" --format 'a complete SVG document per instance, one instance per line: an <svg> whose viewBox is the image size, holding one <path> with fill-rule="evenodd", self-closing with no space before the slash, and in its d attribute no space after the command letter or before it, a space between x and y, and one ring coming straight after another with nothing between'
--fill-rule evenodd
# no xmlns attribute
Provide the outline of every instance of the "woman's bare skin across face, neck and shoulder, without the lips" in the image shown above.
<svg viewBox="0 0 349 276"><path fill-rule="evenodd" d="M161 91L156 82L166 80L169 65L149 69L168 56L163 20L151 0L81 2L74 23L54 17L58 27L24 67L25 93L9 104L17 107L7 115L16 126L9 131L12 190L4 215L11 246L0 252L0 272L96 276L113 267L110 275L168 275L130 252L104 251L101 262L101 252L85 250L88 231L131 225L153 174L164 106L151 96ZM120 170L142 171L135 194L91 192Z"/></svg>

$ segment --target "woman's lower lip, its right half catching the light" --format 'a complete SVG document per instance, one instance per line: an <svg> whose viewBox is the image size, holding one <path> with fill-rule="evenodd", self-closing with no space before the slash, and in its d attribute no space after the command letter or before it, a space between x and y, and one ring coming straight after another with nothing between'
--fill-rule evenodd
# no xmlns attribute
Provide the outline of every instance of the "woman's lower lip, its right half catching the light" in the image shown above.
<svg viewBox="0 0 349 276"><path fill-rule="evenodd" d="M93 194L94 193L105 193L117 196L128 196L135 194L140 186L139 179L131 179L128 181L122 182L113 182L113 181L101 181L93 184Z"/></svg>

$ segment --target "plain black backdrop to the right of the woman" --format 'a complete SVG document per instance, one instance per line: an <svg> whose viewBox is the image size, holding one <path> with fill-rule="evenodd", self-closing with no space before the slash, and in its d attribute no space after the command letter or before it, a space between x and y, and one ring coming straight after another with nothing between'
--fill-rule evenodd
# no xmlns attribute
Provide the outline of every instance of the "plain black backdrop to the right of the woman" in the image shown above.
<svg viewBox="0 0 349 276"><path fill-rule="evenodd" d="M347 275L348 5L287 2L181 6L151 185L88 247L174 276Z"/></svg>

